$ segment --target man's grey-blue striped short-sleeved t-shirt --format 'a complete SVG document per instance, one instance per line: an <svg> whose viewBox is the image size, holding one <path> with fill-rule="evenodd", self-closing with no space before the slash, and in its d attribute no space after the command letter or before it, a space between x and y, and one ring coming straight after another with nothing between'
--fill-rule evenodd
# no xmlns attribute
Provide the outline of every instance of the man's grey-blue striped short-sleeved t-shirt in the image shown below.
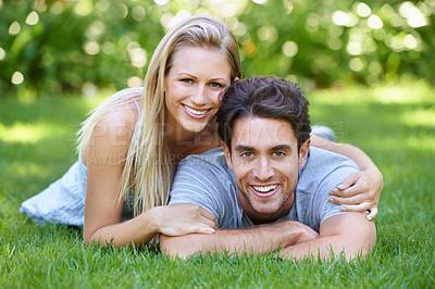
<svg viewBox="0 0 435 289"><path fill-rule="evenodd" d="M341 214L339 206L327 201L328 190L336 188L359 168L351 160L318 148L310 148L299 173L295 202L279 221L298 221L315 231L326 218ZM221 148L184 159L175 175L170 204L196 203L216 216L219 228L253 226L241 209L233 171L226 165Z"/></svg>

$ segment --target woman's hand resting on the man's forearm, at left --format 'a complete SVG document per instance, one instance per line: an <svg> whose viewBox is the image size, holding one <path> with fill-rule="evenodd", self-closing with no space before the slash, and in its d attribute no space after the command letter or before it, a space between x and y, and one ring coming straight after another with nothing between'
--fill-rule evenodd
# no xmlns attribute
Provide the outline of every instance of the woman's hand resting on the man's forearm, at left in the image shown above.
<svg viewBox="0 0 435 289"><path fill-rule="evenodd" d="M217 228L215 216L197 204L171 204L152 210L156 211L158 233L166 236L213 234Z"/></svg>

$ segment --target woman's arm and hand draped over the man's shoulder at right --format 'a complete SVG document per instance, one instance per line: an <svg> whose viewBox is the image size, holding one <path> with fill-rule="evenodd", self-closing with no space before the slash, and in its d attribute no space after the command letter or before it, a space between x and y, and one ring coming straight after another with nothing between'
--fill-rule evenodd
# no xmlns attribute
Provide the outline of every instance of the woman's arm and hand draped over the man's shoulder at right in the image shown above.
<svg viewBox="0 0 435 289"><path fill-rule="evenodd" d="M330 191L330 202L340 204L341 211L363 212L369 210L366 216L372 221L377 215L377 204L384 186L381 171L372 160L360 149L311 136L311 146L345 155L357 163L360 173L347 177L336 189Z"/></svg>

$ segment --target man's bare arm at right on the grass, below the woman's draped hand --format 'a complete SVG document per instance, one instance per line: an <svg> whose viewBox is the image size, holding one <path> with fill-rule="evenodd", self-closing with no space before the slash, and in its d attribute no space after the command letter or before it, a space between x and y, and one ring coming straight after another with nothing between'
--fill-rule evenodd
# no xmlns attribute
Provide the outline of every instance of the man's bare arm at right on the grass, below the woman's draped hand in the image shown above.
<svg viewBox="0 0 435 289"><path fill-rule="evenodd" d="M298 242L281 251L283 257L300 260L313 255L328 259L343 251L347 260L365 255L376 242L376 228L363 213L339 214L326 218L320 226L320 237ZM332 251L331 251L332 250Z"/></svg>

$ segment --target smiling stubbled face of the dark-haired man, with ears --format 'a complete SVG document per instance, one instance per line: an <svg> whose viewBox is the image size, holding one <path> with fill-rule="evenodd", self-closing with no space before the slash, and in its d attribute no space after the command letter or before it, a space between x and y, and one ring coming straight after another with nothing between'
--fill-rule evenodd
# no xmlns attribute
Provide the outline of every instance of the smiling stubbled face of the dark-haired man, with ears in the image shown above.
<svg viewBox="0 0 435 289"><path fill-rule="evenodd" d="M236 178L240 204L256 224L289 212L309 146L307 140L298 151L291 125L285 121L248 116L235 122L232 153L225 143L222 147Z"/></svg>

